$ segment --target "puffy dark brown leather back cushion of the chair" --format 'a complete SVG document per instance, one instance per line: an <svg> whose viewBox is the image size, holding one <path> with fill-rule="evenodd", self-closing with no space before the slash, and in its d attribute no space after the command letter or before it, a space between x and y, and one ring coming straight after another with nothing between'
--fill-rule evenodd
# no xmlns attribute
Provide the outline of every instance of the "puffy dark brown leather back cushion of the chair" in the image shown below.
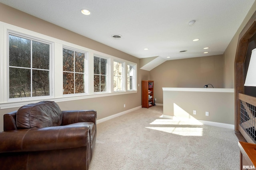
<svg viewBox="0 0 256 170"><path fill-rule="evenodd" d="M16 120L18 128L59 126L62 122L62 111L55 102L42 101L20 107Z"/></svg>

